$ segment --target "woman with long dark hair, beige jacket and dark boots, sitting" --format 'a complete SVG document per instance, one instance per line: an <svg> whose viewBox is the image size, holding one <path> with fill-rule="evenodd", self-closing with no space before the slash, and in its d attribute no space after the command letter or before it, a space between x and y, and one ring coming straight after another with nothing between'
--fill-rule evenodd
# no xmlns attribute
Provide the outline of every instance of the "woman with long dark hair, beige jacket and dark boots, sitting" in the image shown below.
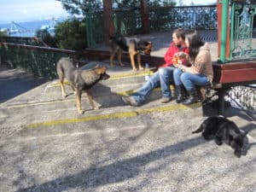
<svg viewBox="0 0 256 192"><path fill-rule="evenodd" d="M196 31L186 32L185 44L189 48L190 67L177 65L173 71L176 86L176 102L189 105L198 102L196 85L212 84L213 70L209 45L201 40ZM189 98L185 99L185 90Z"/></svg>

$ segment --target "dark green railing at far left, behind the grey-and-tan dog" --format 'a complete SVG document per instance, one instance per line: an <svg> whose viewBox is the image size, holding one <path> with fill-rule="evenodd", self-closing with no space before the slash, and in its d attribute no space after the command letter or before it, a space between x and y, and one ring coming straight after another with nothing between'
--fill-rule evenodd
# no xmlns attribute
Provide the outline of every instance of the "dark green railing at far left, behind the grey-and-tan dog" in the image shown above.
<svg viewBox="0 0 256 192"><path fill-rule="evenodd" d="M21 67L36 76L55 79L56 62L62 56L74 57L73 50L0 43L1 63Z"/></svg>

